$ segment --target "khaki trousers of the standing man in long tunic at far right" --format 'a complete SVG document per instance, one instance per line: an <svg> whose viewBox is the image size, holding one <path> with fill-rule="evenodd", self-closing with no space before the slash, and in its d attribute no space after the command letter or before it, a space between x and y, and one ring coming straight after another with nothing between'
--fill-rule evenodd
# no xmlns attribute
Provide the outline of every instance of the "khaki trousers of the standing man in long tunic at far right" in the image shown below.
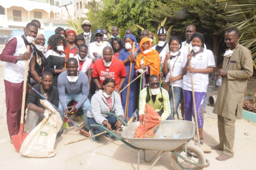
<svg viewBox="0 0 256 170"><path fill-rule="evenodd" d="M218 147L223 149L223 154L234 157L235 117L228 119L218 115L218 129L220 138Z"/></svg>

